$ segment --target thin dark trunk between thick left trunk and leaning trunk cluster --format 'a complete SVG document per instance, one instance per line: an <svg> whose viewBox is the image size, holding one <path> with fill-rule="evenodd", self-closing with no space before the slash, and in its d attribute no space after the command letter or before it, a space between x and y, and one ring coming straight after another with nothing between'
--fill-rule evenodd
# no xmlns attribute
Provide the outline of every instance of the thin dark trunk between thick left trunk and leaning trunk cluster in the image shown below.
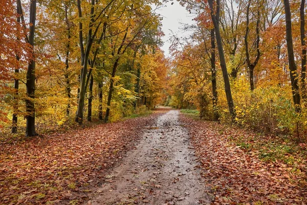
<svg viewBox="0 0 307 205"><path fill-rule="evenodd" d="M68 12L67 12L67 5L65 5L65 23L67 25L67 37L68 41L66 44L66 57L65 57L65 81L66 81L66 94L69 98L66 115L69 116L70 113L70 98L71 98L71 87L70 87L70 80L69 80L69 52L70 52L70 39L71 39L71 31L70 31L70 22L68 20Z"/></svg>

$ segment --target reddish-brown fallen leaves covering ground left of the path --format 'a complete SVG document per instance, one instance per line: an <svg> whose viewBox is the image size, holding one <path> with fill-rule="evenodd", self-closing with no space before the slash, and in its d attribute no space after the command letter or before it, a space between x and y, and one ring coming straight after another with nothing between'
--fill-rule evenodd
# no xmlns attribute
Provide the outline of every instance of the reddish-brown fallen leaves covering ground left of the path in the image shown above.
<svg viewBox="0 0 307 205"><path fill-rule="evenodd" d="M79 204L159 114L0 145L0 204ZM82 190L85 190L84 192ZM66 202L63 202L66 201Z"/></svg>

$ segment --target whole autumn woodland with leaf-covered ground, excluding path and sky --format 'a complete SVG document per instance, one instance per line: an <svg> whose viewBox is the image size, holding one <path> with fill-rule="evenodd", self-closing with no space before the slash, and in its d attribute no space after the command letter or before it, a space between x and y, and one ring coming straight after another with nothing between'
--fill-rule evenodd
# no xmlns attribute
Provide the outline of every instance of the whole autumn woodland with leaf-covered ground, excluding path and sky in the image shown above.
<svg viewBox="0 0 307 205"><path fill-rule="evenodd" d="M305 0L179 0L194 24L170 55L166 2L0 1L0 203L86 201L159 105L184 114L213 204L305 204Z"/></svg>

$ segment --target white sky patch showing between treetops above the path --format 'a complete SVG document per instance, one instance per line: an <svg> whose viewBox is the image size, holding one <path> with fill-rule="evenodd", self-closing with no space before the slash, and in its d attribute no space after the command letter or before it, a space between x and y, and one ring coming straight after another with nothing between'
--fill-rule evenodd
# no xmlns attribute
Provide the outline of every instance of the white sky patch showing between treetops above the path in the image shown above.
<svg viewBox="0 0 307 205"><path fill-rule="evenodd" d="M173 3L171 5L171 3ZM164 45L162 50L165 55L169 55L168 48L170 46L170 36L173 34L178 35L179 37L188 36L189 32L184 32L181 28L183 27L180 23L184 24L193 24L193 16L189 14L189 12L182 7L176 0L173 2L167 2L165 6L156 11L162 17L162 31L165 34L162 40Z"/></svg>

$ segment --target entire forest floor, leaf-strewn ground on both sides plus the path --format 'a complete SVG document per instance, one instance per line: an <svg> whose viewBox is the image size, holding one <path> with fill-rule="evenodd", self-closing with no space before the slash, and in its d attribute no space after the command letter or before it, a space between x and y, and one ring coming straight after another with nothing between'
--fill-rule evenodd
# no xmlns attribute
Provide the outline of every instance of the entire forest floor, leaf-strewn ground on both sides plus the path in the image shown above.
<svg viewBox="0 0 307 205"><path fill-rule="evenodd" d="M307 204L306 156L261 160L254 135L160 108L3 144L0 204Z"/></svg>

